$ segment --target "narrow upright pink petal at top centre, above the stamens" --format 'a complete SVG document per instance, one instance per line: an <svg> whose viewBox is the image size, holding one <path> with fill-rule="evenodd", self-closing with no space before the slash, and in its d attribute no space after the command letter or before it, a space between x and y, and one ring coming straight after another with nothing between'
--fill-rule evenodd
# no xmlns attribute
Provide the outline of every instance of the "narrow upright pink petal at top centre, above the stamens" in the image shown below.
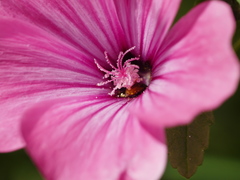
<svg viewBox="0 0 240 180"><path fill-rule="evenodd" d="M114 0L128 47L151 59L165 37L177 13L180 0Z"/></svg>

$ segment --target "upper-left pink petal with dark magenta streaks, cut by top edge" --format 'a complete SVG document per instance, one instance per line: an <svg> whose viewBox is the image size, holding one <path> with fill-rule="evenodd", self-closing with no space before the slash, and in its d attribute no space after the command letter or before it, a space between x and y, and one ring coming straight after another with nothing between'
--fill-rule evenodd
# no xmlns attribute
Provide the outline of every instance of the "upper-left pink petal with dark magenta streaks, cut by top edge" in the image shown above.
<svg viewBox="0 0 240 180"><path fill-rule="evenodd" d="M4 0L0 14L29 21L91 58L103 57L105 50L118 55L124 46L112 0Z"/></svg>

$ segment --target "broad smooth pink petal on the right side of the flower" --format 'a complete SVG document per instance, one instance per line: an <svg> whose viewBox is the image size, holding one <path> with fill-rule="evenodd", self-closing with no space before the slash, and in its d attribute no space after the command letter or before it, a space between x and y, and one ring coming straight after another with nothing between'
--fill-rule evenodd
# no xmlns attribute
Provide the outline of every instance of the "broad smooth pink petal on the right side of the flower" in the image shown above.
<svg viewBox="0 0 240 180"><path fill-rule="evenodd" d="M132 112L145 124L175 126L218 107L239 81L233 31L226 3L209 1L194 8L164 40L151 85L134 101Z"/></svg>

